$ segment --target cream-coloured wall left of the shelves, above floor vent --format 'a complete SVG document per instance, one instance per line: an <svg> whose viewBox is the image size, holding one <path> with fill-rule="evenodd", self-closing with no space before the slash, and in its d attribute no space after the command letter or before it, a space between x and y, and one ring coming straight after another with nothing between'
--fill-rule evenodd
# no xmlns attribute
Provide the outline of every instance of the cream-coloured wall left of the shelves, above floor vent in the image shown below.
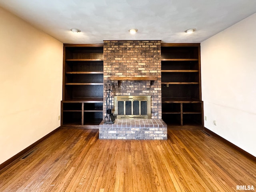
<svg viewBox="0 0 256 192"><path fill-rule="evenodd" d="M0 8L0 164L60 126L63 44Z"/></svg>

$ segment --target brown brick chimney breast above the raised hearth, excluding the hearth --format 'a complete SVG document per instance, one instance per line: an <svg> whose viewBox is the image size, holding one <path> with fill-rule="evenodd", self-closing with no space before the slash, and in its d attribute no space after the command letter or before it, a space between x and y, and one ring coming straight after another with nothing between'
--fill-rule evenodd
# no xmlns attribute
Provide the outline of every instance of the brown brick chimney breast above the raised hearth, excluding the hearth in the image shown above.
<svg viewBox="0 0 256 192"><path fill-rule="evenodd" d="M151 118L161 119L161 40L103 42L104 84L113 84L114 95L150 95ZM108 80L108 77L154 77L157 80ZM105 105L103 110L106 111Z"/></svg>

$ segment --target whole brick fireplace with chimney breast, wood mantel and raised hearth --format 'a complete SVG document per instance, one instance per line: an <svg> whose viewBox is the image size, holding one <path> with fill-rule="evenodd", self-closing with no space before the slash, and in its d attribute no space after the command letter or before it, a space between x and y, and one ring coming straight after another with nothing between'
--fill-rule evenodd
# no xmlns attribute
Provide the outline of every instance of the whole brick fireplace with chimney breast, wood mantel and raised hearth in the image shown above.
<svg viewBox="0 0 256 192"><path fill-rule="evenodd" d="M167 139L167 126L161 119L161 41L105 40L103 57L104 84L113 85L115 96L151 96L151 119L102 122L100 138Z"/></svg>

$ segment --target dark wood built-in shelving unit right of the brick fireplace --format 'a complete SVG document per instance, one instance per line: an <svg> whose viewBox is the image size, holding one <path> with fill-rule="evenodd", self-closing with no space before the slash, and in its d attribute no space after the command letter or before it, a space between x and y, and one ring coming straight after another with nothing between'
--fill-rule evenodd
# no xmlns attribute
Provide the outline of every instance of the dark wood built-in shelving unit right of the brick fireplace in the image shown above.
<svg viewBox="0 0 256 192"><path fill-rule="evenodd" d="M200 44L161 44L162 119L170 128L204 127Z"/></svg>

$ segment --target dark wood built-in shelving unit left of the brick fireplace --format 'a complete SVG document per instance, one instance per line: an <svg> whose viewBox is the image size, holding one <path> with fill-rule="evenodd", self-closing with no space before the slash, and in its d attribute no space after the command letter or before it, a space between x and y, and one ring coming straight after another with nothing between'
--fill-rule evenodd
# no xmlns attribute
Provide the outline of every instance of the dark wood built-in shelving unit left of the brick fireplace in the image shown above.
<svg viewBox="0 0 256 192"><path fill-rule="evenodd" d="M61 125L98 128L103 116L103 44L64 44Z"/></svg>

